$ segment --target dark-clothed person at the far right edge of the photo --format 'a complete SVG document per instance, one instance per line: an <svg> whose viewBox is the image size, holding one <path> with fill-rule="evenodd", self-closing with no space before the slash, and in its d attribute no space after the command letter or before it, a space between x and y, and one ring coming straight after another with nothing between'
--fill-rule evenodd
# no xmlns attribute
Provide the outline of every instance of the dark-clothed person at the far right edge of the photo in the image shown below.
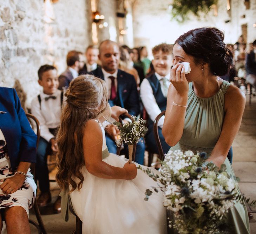
<svg viewBox="0 0 256 234"><path fill-rule="evenodd" d="M246 55L246 81L250 83L256 90L256 40L252 42L252 46L254 50Z"/></svg>

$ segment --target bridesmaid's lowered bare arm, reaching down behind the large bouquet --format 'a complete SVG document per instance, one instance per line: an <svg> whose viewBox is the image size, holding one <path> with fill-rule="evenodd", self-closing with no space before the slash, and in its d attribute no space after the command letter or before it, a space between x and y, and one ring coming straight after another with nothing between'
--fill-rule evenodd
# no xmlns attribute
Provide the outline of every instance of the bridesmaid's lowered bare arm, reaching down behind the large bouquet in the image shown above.
<svg viewBox="0 0 256 234"><path fill-rule="evenodd" d="M221 135L207 161L214 162L220 167L227 158L229 149L241 125L245 107L245 94L237 87L231 85L225 98L225 116Z"/></svg>

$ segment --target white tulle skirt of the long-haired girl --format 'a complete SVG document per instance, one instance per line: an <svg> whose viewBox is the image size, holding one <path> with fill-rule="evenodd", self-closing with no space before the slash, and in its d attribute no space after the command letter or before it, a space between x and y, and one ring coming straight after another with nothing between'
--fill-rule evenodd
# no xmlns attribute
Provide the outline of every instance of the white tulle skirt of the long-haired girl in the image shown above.
<svg viewBox="0 0 256 234"><path fill-rule="evenodd" d="M116 167L127 162L112 153L103 161ZM163 193L153 192L144 201L145 190L157 186L147 174L138 170L134 180L111 180L90 174L86 167L82 173L83 186L70 197L74 211L83 221L84 234L167 233Z"/></svg>

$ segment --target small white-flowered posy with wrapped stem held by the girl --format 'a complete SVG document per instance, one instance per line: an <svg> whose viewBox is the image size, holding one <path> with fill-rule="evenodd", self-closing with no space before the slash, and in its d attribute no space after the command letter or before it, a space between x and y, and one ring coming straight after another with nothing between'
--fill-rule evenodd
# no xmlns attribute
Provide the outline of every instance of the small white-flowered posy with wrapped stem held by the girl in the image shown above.
<svg viewBox="0 0 256 234"><path fill-rule="evenodd" d="M132 121L128 123L114 122L114 125L120 130L120 138L116 140L116 145L120 146L126 143L129 147L129 161L132 162L133 145L139 142L141 137L144 137L148 129L146 120L142 118L136 120L136 116L131 116Z"/></svg>

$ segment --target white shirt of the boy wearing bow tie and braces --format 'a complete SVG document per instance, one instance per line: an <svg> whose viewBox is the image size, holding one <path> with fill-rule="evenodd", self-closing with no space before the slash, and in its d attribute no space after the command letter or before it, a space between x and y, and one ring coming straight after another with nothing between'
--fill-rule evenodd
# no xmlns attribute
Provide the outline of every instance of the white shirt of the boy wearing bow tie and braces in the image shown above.
<svg viewBox="0 0 256 234"><path fill-rule="evenodd" d="M50 133L49 128L57 128L60 125L60 94L61 91L58 89L52 95L41 92L41 109L37 96L31 102L31 113L38 119L41 126L40 136L48 142L51 138L54 138L54 135ZM48 96L56 96L56 99L50 98L45 101L45 98Z"/></svg>

